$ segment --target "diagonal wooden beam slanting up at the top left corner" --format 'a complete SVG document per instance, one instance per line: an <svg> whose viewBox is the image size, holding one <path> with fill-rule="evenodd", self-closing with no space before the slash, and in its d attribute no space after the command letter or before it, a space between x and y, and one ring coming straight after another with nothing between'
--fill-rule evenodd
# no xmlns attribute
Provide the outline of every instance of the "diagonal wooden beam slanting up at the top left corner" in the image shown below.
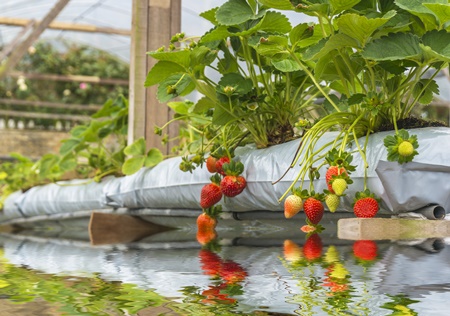
<svg viewBox="0 0 450 316"><path fill-rule="evenodd" d="M70 0L59 0L44 17L44 19L28 35L28 37L11 53L6 62L0 67L0 79L3 79L7 72L17 65L25 52L28 50L28 47L30 47L34 41L39 38L48 25L56 18L62 9L65 8L69 1Z"/></svg>

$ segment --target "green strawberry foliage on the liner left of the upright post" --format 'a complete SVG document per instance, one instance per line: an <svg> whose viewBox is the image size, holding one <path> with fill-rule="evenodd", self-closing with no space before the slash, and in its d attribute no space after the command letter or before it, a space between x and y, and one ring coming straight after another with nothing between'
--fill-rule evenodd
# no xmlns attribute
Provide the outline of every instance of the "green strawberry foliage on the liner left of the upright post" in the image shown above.
<svg viewBox="0 0 450 316"><path fill-rule="evenodd" d="M0 203L11 193L36 185L71 178L100 181L107 175L132 174L162 161L159 149L146 152L143 139L127 146L127 132L128 100L119 96L106 101L88 123L72 128L59 154L46 154L37 161L11 154L12 161L0 164Z"/></svg>

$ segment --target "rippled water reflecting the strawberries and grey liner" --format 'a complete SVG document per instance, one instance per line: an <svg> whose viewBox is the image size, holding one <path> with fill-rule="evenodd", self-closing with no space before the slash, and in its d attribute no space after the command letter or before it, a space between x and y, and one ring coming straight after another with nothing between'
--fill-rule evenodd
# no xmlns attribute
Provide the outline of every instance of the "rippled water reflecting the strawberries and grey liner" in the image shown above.
<svg viewBox="0 0 450 316"><path fill-rule="evenodd" d="M450 239L218 233L206 247L192 229L114 245L3 233L0 315L450 314Z"/></svg>

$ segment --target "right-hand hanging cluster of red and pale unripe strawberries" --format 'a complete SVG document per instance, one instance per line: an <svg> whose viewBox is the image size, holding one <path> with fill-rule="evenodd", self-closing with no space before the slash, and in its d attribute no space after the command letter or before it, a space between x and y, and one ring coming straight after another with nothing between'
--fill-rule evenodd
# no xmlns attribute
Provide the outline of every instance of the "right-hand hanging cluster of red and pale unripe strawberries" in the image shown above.
<svg viewBox="0 0 450 316"><path fill-rule="evenodd" d="M301 210L304 210L308 225L316 226L324 214L324 205L335 212L340 205L341 197L345 195L348 185L353 181L349 175L355 170L350 163L352 156L345 152L331 150L325 158L329 164L325 174L327 190L324 193L314 191L293 189L284 202L284 215L291 218ZM374 217L379 210L378 199L370 190L357 192L353 203L353 211L357 217Z"/></svg>

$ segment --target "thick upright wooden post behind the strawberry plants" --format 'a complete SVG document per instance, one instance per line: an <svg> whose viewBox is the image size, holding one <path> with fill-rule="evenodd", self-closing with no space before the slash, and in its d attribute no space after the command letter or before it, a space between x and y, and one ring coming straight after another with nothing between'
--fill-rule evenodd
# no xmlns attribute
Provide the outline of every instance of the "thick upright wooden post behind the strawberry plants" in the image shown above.
<svg viewBox="0 0 450 316"><path fill-rule="evenodd" d="M153 131L155 125L169 121L172 113L157 100L155 86L144 87L147 73L156 63L146 53L167 46L180 29L181 0L133 0L128 142L145 137L147 149L158 147L163 153L170 152L170 144L161 145L161 137ZM177 127L169 126L166 132L174 137Z"/></svg>

